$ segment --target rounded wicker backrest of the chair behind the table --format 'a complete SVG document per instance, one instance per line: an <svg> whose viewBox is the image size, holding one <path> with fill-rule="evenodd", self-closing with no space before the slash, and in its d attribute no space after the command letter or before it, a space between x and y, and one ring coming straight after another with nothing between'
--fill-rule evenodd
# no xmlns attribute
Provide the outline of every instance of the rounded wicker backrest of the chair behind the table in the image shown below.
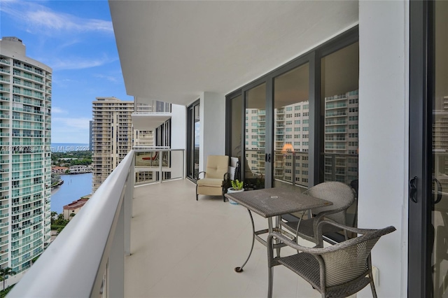
<svg viewBox="0 0 448 298"><path fill-rule="evenodd" d="M346 209L349 208L351 204L353 204L353 201L355 199L353 190L351 190L351 187L349 185L337 181L328 181L310 187L308 190L304 191L304 194L309 194L311 197L332 201L332 206L313 209L312 213L314 214L321 213L322 211L344 208L343 211L339 211L325 217L330 218L331 220L335 220L335 222L339 222L342 225L346 224Z"/></svg>

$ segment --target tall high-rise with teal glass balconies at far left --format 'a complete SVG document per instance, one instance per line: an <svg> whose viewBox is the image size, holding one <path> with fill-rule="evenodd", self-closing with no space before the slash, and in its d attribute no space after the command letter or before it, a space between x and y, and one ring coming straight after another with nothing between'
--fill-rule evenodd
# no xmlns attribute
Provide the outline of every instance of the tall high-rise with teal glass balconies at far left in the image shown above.
<svg viewBox="0 0 448 298"><path fill-rule="evenodd" d="M0 267L28 269L50 243L52 69L0 40Z"/></svg>

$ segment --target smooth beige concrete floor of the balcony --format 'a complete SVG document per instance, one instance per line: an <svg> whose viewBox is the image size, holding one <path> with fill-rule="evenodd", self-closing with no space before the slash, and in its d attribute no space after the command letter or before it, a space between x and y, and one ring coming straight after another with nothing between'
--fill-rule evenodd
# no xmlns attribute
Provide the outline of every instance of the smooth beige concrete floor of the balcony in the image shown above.
<svg viewBox="0 0 448 298"><path fill-rule="evenodd" d="M255 229L267 220L253 214ZM267 250L251 246L246 208L200 195L175 180L136 187L131 252L125 257L125 297L267 297ZM295 253L281 249L281 255ZM289 269L274 268L274 297L321 297Z"/></svg>

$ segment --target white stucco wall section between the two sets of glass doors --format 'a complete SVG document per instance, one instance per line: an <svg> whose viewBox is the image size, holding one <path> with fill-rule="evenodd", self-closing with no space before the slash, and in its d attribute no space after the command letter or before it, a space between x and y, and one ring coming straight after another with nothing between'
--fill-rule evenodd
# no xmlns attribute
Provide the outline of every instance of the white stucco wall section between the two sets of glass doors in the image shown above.
<svg viewBox="0 0 448 298"><path fill-rule="evenodd" d="M378 297L407 296L408 36L407 1L359 1L358 227L397 229L372 252Z"/></svg>

